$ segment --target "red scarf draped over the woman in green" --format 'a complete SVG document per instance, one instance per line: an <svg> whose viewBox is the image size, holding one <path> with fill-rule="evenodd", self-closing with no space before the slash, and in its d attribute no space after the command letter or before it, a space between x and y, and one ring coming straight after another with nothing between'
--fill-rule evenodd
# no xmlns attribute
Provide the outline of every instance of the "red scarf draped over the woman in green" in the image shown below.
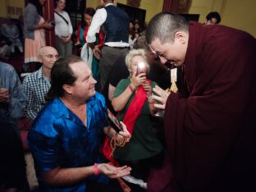
<svg viewBox="0 0 256 192"><path fill-rule="evenodd" d="M147 80L149 84L150 80ZM123 122L126 125L127 130L132 135L133 130L135 128L135 122L140 115L142 107L147 99L146 93L144 91L144 87L142 85L139 86L137 93L135 94L135 98L131 101L130 107L127 109L126 114L124 116ZM103 154L105 157L111 161L115 166L118 166L118 162L111 156L112 148L110 146L110 138L106 137L104 146L103 146Z"/></svg>

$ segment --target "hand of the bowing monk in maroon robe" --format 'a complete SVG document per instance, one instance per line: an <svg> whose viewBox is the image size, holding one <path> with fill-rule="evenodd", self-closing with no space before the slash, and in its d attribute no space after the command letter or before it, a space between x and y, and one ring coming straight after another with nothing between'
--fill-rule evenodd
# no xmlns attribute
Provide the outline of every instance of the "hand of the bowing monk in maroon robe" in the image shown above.
<svg viewBox="0 0 256 192"><path fill-rule="evenodd" d="M153 98L158 101L158 103L154 103L154 107L157 107L159 109L165 109L166 103L167 103L167 98L171 93L167 93L164 89L161 89L158 85L156 85L153 88L153 92L156 93L157 95L153 95Z"/></svg>

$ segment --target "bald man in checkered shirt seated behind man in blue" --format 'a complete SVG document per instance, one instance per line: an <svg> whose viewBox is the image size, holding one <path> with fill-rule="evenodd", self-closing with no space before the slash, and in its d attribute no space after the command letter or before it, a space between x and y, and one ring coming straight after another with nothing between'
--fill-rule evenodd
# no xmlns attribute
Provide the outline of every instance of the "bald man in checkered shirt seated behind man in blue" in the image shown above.
<svg viewBox="0 0 256 192"><path fill-rule="evenodd" d="M40 48L39 62L42 62L42 67L26 76L23 80L23 87L27 97L25 114L31 121L34 121L46 103L44 97L51 87L51 70L58 57L59 55L55 48L49 46Z"/></svg>

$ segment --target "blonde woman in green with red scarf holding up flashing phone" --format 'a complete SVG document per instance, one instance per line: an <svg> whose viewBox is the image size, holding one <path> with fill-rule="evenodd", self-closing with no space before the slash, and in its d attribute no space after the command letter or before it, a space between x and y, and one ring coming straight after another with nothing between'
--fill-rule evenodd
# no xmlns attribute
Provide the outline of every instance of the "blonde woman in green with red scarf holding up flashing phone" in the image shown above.
<svg viewBox="0 0 256 192"><path fill-rule="evenodd" d="M131 50L126 55L126 66L130 76L118 83L112 107L119 112L118 120L126 124L132 136L129 143L115 149L113 158L121 164L127 163L135 180L146 182L150 167L162 162L162 144L149 120L150 115L158 112L152 95L152 88L157 84L147 80L149 64L144 49ZM130 187L133 190L135 185Z"/></svg>

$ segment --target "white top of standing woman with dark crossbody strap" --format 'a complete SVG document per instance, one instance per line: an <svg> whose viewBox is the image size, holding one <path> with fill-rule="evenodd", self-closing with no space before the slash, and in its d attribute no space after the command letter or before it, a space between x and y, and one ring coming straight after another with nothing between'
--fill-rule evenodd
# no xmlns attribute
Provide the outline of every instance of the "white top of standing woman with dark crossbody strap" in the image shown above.
<svg viewBox="0 0 256 192"><path fill-rule="evenodd" d="M66 21L68 21L68 25L66 25L66 21L62 19L61 16L58 16L57 13L54 12L54 20L55 20L55 34L57 36L68 36L73 33L73 27L71 24L70 16L68 16L66 11L58 12L62 15Z"/></svg>

